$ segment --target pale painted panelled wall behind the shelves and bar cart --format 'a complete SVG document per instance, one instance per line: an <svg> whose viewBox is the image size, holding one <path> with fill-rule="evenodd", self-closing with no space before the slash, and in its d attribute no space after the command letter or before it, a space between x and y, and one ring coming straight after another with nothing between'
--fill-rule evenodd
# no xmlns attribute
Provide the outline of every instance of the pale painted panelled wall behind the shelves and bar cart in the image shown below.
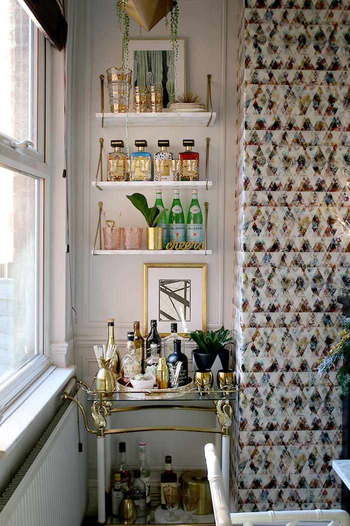
<svg viewBox="0 0 350 526"><path fill-rule="evenodd" d="M207 74L212 81L213 107L217 119L212 127L130 127L130 149L135 139L146 139L149 151L158 151L157 140L169 139L177 156L183 151L182 140L193 138L200 155L200 179L205 178L206 137L210 137L209 179L213 188L199 191L199 202L209 203L208 248L213 255L173 258L166 256L91 256L96 235L98 203L103 202L107 218L117 219L121 211L121 226L143 226L145 221L126 199L126 191L99 191L91 187L96 177L99 158L99 139L104 139L103 177L107 176L107 153L111 139L124 139L125 129L103 128L95 113L100 112L100 78L107 81L106 70L120 67L122 43L118 32L115 0L75 0L70 20L73 27L73 56L71 93L69 94L69 169L73 178L71 196L73 258L73 305L78 313L75 330L75 352L78 376L88 378L97 365L92 346L107 340L107 318L115 318L115 337L124 351L126 332L134 320L142 323L143 263L145 262L206 262L208 265L207 325L216 329L224 323L230 327L232 297L232 205L234 199L234 171L236 169L236 1L235 0L179 0L178 37L186 39L186 90L198 94L206 103ZM165 23L161 21L144 38L166 38ZM139 37L139 26L130 23L130 37ZM229 63L227 64L227 61ZM105 111L108 111L108 90L105 87ZM145 190L153 204L155 190ZM163 192L166 207L171 205L173 193ZM190 193L181 193L182 205L188 208ZM145 233L144 233L145 248ZM187 354L190 357L190 346ZM171 413L171 414L170 414ZM135 416L136 414L136 416ZM133 413L114 421L112 427L142 425L153 418L154 423L169 424L176 418L184 425L213 426L212 416L193 412L156 412L147 417ZM157 421L155 421L157 420ZM175 420L174 420L175 421ZM153 470L154 482L164 468L165 454L172 454L174 470L180 474L187 469L204 466L204 444L213 436L189 433L143 433L147 441L147 458ZM128 459L136 462L139 434L125 436ZM112 438L112 463L116 462L117 443ZM90 487L93 493L96 478L96 440L90 437ZM92 499L90 511L95 503Z"/></svg>

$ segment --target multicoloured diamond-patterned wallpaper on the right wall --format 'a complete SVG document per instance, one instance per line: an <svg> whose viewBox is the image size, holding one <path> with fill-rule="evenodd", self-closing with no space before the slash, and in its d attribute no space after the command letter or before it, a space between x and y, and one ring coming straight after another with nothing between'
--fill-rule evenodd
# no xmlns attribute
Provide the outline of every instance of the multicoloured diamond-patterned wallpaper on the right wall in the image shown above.
<svg viewBox="0 0 350 526"><path fill-rule="evenodd" d="M247 0L245 18L238 508L337 507L341 391L315 366L350 286L333 215L350 164L350 4Z"/></svg>

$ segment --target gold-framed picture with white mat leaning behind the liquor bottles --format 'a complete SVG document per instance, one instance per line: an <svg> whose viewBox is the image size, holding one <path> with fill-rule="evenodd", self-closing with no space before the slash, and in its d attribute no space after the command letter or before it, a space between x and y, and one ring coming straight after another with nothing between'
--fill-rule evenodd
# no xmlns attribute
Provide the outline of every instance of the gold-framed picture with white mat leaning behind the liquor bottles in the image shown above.
<svg viewBox="0 0 350 526"><path fill-rule="evenodd" d="M151 319L157 320L161 336L170 334L171 322L183 327L186 336L193 330L207 328L207 264L143 264L143 333L148 336ZM178 319L176 319L178 318Z"/></svg>

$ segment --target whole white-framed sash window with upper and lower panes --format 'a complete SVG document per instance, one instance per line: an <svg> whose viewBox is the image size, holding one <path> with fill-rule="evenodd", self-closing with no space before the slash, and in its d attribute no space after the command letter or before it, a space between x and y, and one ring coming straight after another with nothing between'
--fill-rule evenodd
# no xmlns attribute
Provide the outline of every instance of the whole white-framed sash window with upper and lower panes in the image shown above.
<svg viewBox="0 0 350 526"><path fill-rule="evenodd" d="M0 2L0 413L44 367L45 41ZM16 147L30 141L33 147Z"/></svg>

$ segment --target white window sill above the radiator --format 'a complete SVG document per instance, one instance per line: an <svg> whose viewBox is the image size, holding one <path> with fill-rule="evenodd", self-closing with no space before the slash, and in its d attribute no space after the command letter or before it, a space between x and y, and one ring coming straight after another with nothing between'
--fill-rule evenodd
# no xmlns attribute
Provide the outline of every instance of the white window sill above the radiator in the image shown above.
<svg viewBox="0 0 350 526"><path fill-rule="evenodd" d="M0 422L0 459L8 456L50 401L63 391L74 374L75 368L72 366L67 368L50 366L30 386L32 392L29 396L28 393L24 393L8 410L4 411L3 420Z"/></svg>

